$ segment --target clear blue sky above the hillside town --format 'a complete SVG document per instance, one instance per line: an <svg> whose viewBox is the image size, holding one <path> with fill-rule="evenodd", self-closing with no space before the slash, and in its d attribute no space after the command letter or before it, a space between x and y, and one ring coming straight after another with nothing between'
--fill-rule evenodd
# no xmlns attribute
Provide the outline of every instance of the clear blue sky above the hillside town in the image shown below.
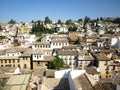
<svg viewBox="0 0 120 90"><path fill-rule="evenodd" d="M120 0L0 0L0 22L120 17Z"/></svg>

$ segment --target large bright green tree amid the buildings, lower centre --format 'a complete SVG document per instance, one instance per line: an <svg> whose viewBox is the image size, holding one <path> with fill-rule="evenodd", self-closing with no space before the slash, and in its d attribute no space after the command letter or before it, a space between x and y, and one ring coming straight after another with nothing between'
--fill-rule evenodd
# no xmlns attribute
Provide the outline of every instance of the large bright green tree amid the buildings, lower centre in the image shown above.
<svg viewBox="0 0 120 90"><path fill-rule="evenodd" d="M57 69L59 70L64 66L64 61L62 58L56 57L54 60L50 61L47 65L49 69Z"/></svg>

